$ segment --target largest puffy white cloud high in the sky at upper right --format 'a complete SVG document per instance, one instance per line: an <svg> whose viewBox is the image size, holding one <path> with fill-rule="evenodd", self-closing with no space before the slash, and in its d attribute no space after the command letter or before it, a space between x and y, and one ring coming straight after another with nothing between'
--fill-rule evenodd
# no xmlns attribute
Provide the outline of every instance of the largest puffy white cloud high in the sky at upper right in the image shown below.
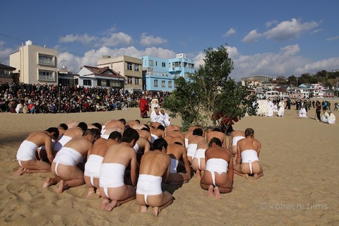
<svg viewBox="0 0 339 226"><path fill-rule="evenodd" d="M286 20L279 23L274 28L264 32L263 35L268 40L283 42L300 37L303 32L313 31L315 28L318 28L319 25L320 23L315 21L302 23L301 21L292 18L290 21Z"/></svg>

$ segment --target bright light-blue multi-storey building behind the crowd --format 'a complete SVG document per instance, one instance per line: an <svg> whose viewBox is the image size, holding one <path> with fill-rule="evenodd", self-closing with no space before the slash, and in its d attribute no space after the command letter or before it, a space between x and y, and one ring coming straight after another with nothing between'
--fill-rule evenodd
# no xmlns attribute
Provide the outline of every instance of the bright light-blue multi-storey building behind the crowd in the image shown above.
<svg viewBox="0 0 339 226"><path fill-rule="evenodd" d="M143 90L169 91L175 88L174 78L188 79L194 73L194 61L186 54L177 54L174 59L145 56L141 57L143 66Z"/></svg>

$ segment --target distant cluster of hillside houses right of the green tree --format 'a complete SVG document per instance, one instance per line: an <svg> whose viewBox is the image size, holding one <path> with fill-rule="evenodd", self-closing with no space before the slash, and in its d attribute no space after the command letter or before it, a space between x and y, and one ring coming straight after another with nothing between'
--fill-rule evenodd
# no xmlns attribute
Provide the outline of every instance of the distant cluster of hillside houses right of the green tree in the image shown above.
<svg viewBox="0 0 339 226"><path fill-rule="evenodd" d="M242 85L247 83L251 93L259 99L309 99L309 98L334 98L333 90L324 88L321 84L301 84L299 86L278 85L268 76L252 76L242 79Z"/></svg>

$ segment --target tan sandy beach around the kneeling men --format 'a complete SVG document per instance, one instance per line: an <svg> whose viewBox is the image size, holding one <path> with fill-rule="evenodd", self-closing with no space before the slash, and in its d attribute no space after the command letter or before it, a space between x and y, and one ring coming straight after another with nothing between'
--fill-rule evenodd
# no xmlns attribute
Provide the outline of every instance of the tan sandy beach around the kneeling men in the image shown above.
<svg viewBox="0 0 339 226"><path fill-rule="evenodd" d="M334 108L334 101L331 101ZM337 119L339 112L334 112ZM16 152L31 131L70 120L103 124L108 119L141 119L138 108L76 114L0 113L0 225L338 225L339 125L297 117L244 117L234 129L251 127L261 141L264 176L254 181L234 175L234 189L218 200L206 196L198 179L180 188L168 186L175 200L155 217L140 213L136 201L100 210L101 200L85 198L85 185L57 194L57 186L42 189L51 173L12 175ZM141 119L145 123L147 119ZM181 125L179 119L172 124Z"/></svg>

